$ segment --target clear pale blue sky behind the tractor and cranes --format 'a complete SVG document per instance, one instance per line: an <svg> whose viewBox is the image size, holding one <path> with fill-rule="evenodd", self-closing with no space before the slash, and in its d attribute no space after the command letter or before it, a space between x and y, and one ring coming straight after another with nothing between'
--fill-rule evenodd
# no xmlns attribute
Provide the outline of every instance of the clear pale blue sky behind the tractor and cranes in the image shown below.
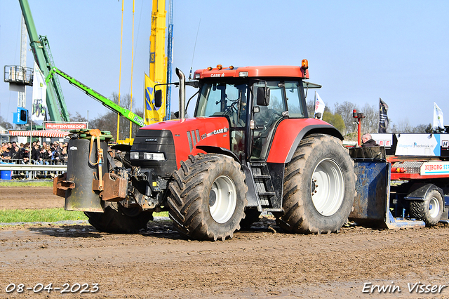
<svg viewBox="0 0 449 299"><path fill-rule="evenodd" d="M57 67L102 95L118 93L121 1L29 0L29 6ZM133 1L125 0L122 95L130 93L132 9ZM135 0L134 107L143 103L151 9L151 1ZM20 63L20 13L18 1L0 0L1 67ZM300 65L306 58L310 81L323 86L319 94L329 107L346 100L377 106L382 98L393 124L429 124L433 102L449 119L448 13L449 1L174 0L173 66L188 76L199 29L194 70ZM72 114L89 111L93 119L107 112L63 79L61 84ZM27 88L27 109L31 93ZM177 111L177 88L172 102ZM17 93L1 80L0 115L12 122L16 107Z"/></svg>

